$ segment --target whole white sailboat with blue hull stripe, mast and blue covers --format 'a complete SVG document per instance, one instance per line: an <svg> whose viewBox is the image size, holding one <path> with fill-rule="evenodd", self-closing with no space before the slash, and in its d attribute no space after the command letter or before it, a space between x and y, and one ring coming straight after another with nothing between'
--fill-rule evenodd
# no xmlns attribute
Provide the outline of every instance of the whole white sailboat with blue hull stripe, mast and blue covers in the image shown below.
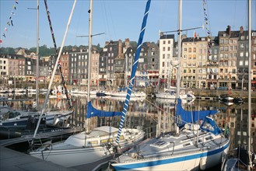
<svg viewBox="0 0 256 171"><path fill-rule="evenodd" d="M181 1L178 58L181 60ZM143 141L110 161L115 170L199 170L221 163L230 147L230 136L209 115L217 110L187 111L178 98L181 67L177 74L176 131ZM202 123L202 124L200 124Z"/></svg>

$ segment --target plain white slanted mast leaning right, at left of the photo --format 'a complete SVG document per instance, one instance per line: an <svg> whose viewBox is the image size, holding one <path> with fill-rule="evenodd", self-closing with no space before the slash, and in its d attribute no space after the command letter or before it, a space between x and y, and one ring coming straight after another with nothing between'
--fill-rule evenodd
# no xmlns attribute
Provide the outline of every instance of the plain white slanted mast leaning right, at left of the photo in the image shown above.
<svg viewBox="0 0 256 171"><path fill-rule="evenodd" d="M37 130L38 130L38 127L40 125L40 120L42 119L42 116L43 116L44 111L45 111L45 107L46 107L46 104L47 104L47 101L48 101L47 99L48 99L48 96L49 96L50 90L51 90L51 85L52 85L52 82L54 82L54 75L55 75L55 72L56 72L57 67L58 67L58 61L61 58L61 52L62 52L64 44L65 44L65 39L66 39L66 36L67 36L67 33L68 33L68 27L69 27L69 24L71 22L71 19L72 19L72 16L73 16L73 12L74 12L74 9L75 9L75 4L76 4L76 0L73 3L72 12L70 13L70 16L68 18L68 23L67 23L67 26L66 26L64 38L63 38L62 43L61 43L61 49L60 49L60 51L58 53L58 58L56 59L56 62L55 62L55 65L54 65L54 70L53 70L52 75L51 75L51 80L50 80L50 83L49 83L49 86L48 86L48 89L47 89L47 94L46 94L45 99L44 99L44 104L42 106L40 117L39 117L38 122L37 122L37 127L36 127L36 130L34 131L34 134L33 134L33 138L36 137ZM33 144L33 142L32 142L32 144Z"/></svg>

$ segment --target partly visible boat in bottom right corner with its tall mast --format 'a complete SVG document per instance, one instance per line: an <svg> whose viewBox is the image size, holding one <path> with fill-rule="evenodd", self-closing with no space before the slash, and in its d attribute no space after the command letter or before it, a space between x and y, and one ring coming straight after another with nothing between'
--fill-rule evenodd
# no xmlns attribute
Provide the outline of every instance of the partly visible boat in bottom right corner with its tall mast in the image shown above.
<svg viewBox="0 0 256 171"><path fill-rule="evenodd" d="M247 134L248 134L248 144L247 149L238 147L237 157L231 157L230 159L224 159L223 171L228 170L255 170L256 163L253 164L255 155L253 149L251 150L251 0L248 0L248 121L247 121Z"/></svg>

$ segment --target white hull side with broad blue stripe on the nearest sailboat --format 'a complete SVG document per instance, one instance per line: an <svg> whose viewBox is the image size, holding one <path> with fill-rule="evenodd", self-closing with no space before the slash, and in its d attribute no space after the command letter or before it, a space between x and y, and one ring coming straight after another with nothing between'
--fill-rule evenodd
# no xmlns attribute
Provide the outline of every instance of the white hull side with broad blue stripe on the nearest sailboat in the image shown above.
<svg viewBox="0 0 256 171"><path fill-rule="evenodd" d="M215 153L216 151L219 151L219 148L209 151L205 150L205 152L191 152L187 155L174 155L152 160L144 159L144 161L128 162L123 165L113 164L113 166L116 170L122 170L121 168L124 167L125 170L205 170L220 164L223 153L226 154L228 152L228 148L220 150L214 155L207 155L207 153ZM205 156L200 157L202 155ZM195 158L195 156L197 157Z"/></svg>

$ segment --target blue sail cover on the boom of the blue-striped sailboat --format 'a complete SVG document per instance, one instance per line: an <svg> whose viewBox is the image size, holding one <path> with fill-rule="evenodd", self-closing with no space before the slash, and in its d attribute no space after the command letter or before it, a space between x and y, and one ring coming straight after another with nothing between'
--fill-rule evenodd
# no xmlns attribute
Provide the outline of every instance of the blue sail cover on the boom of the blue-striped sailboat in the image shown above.
<svg viewBox="0 0 256 171"><path fill-rule="evenodd" d="M176 122L179 127L184 126L186 123L193 123L198 120L203 120L209 115L215 115L218 110L200 110L200 111L188 111L184 110L181 106L181 99L177 99L176 106Z"/></svg>

